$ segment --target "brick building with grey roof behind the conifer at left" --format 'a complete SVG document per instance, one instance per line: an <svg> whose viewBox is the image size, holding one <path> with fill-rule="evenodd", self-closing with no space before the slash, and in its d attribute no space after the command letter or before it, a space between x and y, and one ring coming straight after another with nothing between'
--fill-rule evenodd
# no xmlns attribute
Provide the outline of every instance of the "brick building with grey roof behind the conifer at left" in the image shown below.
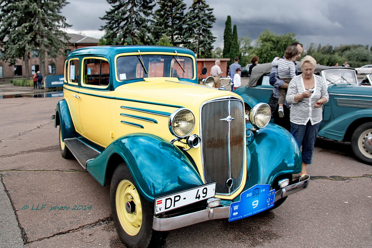
<svg viewBox="0 0 372 248"><path fill-rule="evenodd" d="M45 56L45 72L42 73L44 76L63 74L64 60L67 54L78 48L96 46L99 42L99 39L89 36L78 34L67 35L70 37L70 39L67 42L65 55L59 55L57 58L49 58L48 55ZM30 53L30 59L28 62L30 76L32 76L35 71L39 71L41 68L38 51L32 51ZM10 79L15 78L26 78L25 61L17 60L14 66L10 66L6 61L0 60L0 81L9 81Z"/></svg>

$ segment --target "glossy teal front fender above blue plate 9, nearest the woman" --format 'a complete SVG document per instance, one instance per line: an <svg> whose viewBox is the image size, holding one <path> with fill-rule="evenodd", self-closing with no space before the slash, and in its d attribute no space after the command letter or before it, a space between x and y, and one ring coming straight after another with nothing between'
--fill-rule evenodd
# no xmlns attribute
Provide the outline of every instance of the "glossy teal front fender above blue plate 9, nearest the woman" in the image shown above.
<svg viewBox="0 0 372 248"><path fill-rule="evenodd" d="M247 131L247 135L249 133ZM292 134L269 123L258 133L247 137L247 167L244 190L256 184L272 185L279 175L297 174L301 171L301 152Z"/></svg>

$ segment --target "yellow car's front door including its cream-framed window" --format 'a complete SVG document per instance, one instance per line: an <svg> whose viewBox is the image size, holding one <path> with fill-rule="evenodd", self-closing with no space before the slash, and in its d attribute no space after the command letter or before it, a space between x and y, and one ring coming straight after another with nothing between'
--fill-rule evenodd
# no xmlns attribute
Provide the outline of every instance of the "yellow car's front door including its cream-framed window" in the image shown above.
<svg viewBox="0 0 372 248"><path fill-rule="evenodd" d="M81 135L107 147L113 141L110 101L115 101L111 97L109 61L99 56L83 57L80 73Z"/></svg>

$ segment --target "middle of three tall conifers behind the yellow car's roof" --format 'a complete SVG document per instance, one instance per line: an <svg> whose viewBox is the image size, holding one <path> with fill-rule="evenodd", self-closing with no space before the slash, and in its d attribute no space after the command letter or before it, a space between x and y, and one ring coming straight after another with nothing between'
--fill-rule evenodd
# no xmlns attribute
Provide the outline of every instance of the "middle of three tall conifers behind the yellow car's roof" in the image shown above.
<svg viewBox="0 0 372 248"><path fill-rule="evenodd" d="M183 0L158 0L157 4L159 9L155 10L152 32L155 41L165 34L169 37L170 43L175 46L182 45L186 4Z"/></svg>

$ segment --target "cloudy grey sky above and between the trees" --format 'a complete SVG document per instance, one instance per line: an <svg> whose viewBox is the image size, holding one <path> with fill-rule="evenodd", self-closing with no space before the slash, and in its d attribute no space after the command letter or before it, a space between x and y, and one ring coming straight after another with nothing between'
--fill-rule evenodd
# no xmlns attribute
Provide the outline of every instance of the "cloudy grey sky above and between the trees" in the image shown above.
<svg viewBox="0 0 372 248"><path fill-rule="evenodd" d="M184 0L187 8L192 0ZM372 45L371 0L206 0L217 18L212 32L217 37L214 47L223 48L225 21L231 16L238 36L253 40L267 28L275 34L294 32L306 48L310 43L321 45ZM69 33L82 33L101 38L105 23L99 19L109 10L106 0L70 0L62 9Z"/></svg>

